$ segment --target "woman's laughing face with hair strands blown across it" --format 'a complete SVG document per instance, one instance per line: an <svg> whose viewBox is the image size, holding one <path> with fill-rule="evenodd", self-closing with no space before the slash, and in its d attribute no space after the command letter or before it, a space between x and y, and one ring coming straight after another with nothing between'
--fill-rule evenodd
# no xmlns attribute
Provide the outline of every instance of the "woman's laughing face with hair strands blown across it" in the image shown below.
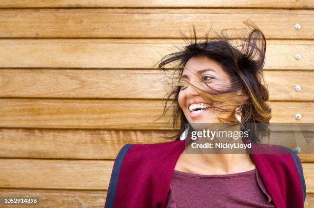
<svg viewBox="0 0 314 208"><path fill-rule="evenodd" d="M205 91L210 90L208 86L218 90L231 87L229 74L217 62L207 57L189 59L182 72L180 82L182 81L188 81ZM214 111L210 103L206 103L190 85L181 87L178 101L189 123L222 123L218 117L232 120L235 118L231 112Z"/></svg>

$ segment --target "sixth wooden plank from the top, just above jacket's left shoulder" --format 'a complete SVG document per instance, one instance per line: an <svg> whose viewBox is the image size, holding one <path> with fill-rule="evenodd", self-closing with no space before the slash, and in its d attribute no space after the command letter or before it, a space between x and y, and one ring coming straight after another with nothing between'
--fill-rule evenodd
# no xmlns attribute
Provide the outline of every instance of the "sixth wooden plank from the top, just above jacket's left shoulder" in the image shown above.
<svg viewBox="0 0 314 208"><path fill-rule="evenodd" d="M119 150L127 143L169 142L170 139L163 137L174 134L175 131L0 129L0 157L115 159ZM270 142L293 149L300 146L299 141L302 139L294 134L272 131ZM303 133L306 138L313 138L313 134ZM301 149L301 161L314 162L314 154L304 154L305 148L302 146Z"/></svg>

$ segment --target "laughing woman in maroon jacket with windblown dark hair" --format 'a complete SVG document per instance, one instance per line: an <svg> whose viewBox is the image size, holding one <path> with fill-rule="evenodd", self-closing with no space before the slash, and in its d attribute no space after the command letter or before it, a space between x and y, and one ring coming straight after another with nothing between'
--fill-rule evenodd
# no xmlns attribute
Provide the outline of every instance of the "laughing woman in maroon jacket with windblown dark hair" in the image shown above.
<svg viewBox="0 0 314 208"><path fill-rule="evenodd" d="M286 147L259 143L267 129L258 124L271 118L262 83L266 40L254 24L245 24L252 30L238 46L227 30L217 40L206 35L198 43L193 28L194 42L162 60L162 70L179 61L168 100L173 98L173 127L180 120L181 128L170 137L175 141L127 144L120 150L105 207L303 207L298 156ZM184 140L185 124L197 129L198 124L239 123L253 126L249 140L238 140L252 142L248 154L187 154L192 140Z"/></svg>

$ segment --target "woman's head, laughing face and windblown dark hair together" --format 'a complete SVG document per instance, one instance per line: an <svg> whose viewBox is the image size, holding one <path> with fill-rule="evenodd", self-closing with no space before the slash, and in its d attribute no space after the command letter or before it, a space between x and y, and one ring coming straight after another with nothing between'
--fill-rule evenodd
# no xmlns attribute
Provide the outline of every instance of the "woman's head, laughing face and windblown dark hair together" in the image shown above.
<svg viewBox="0 0 314 208"><path fill-rule="evenodd" d="M266 39L251 21L244 23L251 30L247 36L240 33L238 42L228 37L230 29L213 40L208 40L207 33L205 41L198 42L193 27L194 38L187 39L187 46L161 60L162 71L174 69L173 90L162 116L173 99L173 128L179 121L181 124L178 133L169 138L178 139L186 123L269 123L271 108L266 103L269 93L263 77ZM170 63L178 64L167 67ZM201 103L208 107L195 105ZM263 127L256 125L251 138L266 135Z"/></svg>

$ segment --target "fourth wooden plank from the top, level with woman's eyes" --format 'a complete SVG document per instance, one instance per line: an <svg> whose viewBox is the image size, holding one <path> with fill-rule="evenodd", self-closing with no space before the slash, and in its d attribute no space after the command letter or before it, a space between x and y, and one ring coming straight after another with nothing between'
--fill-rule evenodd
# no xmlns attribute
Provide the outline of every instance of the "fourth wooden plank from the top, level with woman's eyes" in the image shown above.
<svg viewBox="0 0 314 208"><path fill-rule="evenodd" d="M264 77L270 100L314 100L312 71L273 70ZM2 69L0 80L0 97L162 99L171 90L159 70Z"/></svg>

